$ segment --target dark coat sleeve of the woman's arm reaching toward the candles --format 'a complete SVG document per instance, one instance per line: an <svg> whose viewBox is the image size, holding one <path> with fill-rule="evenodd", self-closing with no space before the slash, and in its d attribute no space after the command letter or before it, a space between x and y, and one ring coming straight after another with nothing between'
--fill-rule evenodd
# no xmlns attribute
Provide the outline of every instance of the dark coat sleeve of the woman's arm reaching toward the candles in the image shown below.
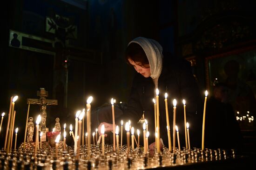
<svg viewBox="0 0 256 170"><path fill-rule="evenodd" d="M128 120L131 120L132 122L137 123L141 119L143 108L138 94L138 79L138 75L135 75L128 100L128 106L124 110L124 113L115 120L116 122L121 122L121 120L123 120L125 123Z"/></svg>

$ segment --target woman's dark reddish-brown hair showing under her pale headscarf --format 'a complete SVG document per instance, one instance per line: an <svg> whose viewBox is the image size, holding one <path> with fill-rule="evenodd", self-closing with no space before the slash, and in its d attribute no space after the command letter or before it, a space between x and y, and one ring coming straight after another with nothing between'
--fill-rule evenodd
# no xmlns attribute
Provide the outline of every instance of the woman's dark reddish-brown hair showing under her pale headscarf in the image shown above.
<svg viewBox="0 0 256 170"><path fill-rule="evenodd" d="M129 65L131 65L128 59L133 60L135 63L141 63L140 65L146 68L149 67L148 57L140 44L131 43L128 45L125 52L125 60Z"/></svg>

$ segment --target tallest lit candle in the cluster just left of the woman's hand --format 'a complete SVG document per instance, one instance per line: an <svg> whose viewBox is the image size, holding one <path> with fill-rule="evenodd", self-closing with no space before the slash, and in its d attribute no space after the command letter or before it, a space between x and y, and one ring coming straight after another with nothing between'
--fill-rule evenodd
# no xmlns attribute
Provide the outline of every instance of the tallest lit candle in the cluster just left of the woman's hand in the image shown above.
<svg viewBox="0 0 256 170"><path fill-rule="evenodd" d="M86 104L86 110L87 110L87 132L88 132L88 137L87 137L87 144L88 144L88 157L90 157L90 150L91 150L91 136L92 136L92 131L91 131L91 102L93 101L93 97L90 96L87 99L87 104Z"/></svg>

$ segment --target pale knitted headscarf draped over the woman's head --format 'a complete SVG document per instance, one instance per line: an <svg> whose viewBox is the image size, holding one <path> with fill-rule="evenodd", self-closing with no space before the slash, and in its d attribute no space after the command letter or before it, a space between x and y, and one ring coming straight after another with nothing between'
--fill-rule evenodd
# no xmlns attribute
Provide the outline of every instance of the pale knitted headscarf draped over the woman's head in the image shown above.
<svg viewBox="0 0 256 170"><path fill-rule="evenodd" d="M141 45L142 49L144 50L146 56L148 57L151 72L150 77L155 83L155 88L157 88L158 77L162 72L162 46L154 39L144 37L135 38L131 42L129 42L129 44L131 43L137 43Z"/></svg>

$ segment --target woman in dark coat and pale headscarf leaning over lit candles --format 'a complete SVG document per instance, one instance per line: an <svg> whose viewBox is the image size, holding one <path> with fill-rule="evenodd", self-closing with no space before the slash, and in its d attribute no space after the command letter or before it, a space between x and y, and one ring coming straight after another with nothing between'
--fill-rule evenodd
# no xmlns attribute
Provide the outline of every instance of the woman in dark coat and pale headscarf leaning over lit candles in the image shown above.
<svg viewBox="0 0 256 170"><path fill-rule="evenodd" d="M167 128L166 128L166 113L164 103L164 93L168 93L168 108L170 126L172 122L172 101L176 99L177 104L177 118L176 122L179 126L180 136L184 136L184 116L182 99L186 100L187 121L194 126L194 132L202 132L195 127L199 122L201 123L202 116L199 114L201 109L201 96L192 74L189 62L185 60L169 60L170 56L162 55L162 46L153 39L138 37L128 44L126 50L126 61L136 70L134 77L130 98L128 100L128 107L123 115L116 118L116 124L123 120L124 122L131 120L134 126L136 122L141 119L144 113L145 119L148 120L148 131L151 132L149 138L150 148L155 145L155 116L154 104L152 99L155 98L155 89L158 88L159 94L159 108L160 108L160 136L163 144L168 145ZM196 122L198 120L198 122ZM102 122L99 126L104 124L105 131L111 132L113 130L112 124ZM140 127L141 129L141 127ZM172 131L172 128L171 128ZM190 132L195 139L195 133ZM200 134L198 134L200 136ZM185 138L184 138L185 139ZM200 141L199 139L198 141ZM198 144L200 142L197 142ZM194 141L191 145L196 146ZM181 145L185 146L185 140L181 138Z"/></svg>

